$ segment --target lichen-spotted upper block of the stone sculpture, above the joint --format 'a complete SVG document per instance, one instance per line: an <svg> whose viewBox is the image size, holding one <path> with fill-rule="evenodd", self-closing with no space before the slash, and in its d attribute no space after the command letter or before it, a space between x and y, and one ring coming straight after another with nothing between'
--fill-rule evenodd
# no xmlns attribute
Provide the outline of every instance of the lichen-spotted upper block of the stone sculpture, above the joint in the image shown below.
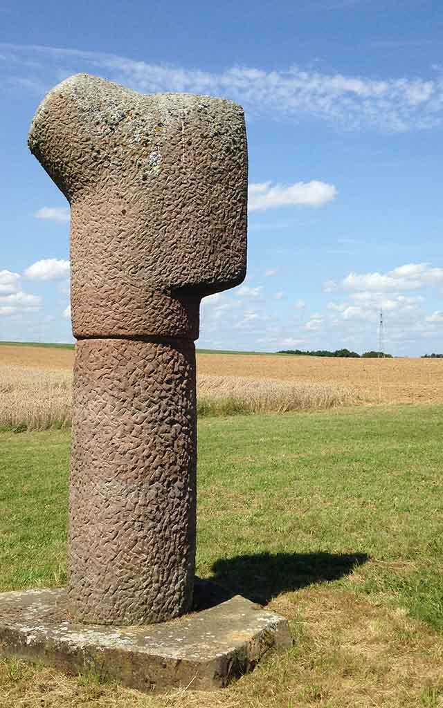
<svg viewBox="0 0 443 708"><path fill-rule="evenodd" d="M28 144L72 207L74 336L198 337L201 297L245 278L242 108L77 74Z"/></svg>

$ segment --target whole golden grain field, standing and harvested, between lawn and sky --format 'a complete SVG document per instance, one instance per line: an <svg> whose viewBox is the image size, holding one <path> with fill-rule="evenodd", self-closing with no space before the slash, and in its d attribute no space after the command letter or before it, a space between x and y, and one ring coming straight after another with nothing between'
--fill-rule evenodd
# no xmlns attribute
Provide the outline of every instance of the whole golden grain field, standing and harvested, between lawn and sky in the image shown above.
<svg viewBox="0 0 443 708"><path fill-rule="evenodd" d="M71 421L74 350L0 346L0 428ZM443 401L443 360L197 354L198 415L318 411Z"/></svg>

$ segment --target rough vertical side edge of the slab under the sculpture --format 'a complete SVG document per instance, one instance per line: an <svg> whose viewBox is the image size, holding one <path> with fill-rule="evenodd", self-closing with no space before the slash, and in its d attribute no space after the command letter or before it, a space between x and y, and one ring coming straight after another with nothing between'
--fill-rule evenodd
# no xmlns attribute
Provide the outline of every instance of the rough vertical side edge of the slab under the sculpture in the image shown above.
<svg viewBox="0 0 443 708"><path fill-rule="evenodd" d="M229 613L232 601L238 603L239 600L245 602L245 607L252 607L252 603L238 595L219 607L225 607ZM210 611L203 610L196 613L196 616ZM286 618L267 610L260 609L258 613L262 619L264 615L269 615L266 617L265 627L251 632L250 615L245 616L245 633L241 639L236 643L231 641L226 651L219 652L216 656L208 656L206 660L162 656L160 648L159 653L155 654L133 649L128 651L124 646L99 646L92 641L88 644L72 644L43 634L35 637L32 630L26 626L26 621L23 622L22 628L13 627L8 626L4 617L0 619L0 652L44 666L52 666L65 673L91 671L100 675L103 680L115 680L126 687L142 691L169 688L215 690L249 673L271 651L284 651L292 646ZM93 629L92 625L87 627ZM139 627L138 632L141 629ZM147 635L149 631L150 627L146 627ZM204 646L203 637L202 644ZM232 644L235 646L232 647Z"/></svg>

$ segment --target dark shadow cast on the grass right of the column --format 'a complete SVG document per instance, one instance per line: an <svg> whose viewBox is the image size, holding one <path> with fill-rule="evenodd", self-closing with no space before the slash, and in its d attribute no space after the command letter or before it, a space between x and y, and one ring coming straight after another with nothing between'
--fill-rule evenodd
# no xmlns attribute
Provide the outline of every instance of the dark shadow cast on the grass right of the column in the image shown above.
<svg viewBox="0 0 443 708"><path fill-rule="evenodd" d="M280 593L338 580L368 560L365 553L320 552L257 553L223 558L213 564L210 594L215 593L215 587L221 586L225 590L224 599L243 595L254 603L266 605Z"/></svg>

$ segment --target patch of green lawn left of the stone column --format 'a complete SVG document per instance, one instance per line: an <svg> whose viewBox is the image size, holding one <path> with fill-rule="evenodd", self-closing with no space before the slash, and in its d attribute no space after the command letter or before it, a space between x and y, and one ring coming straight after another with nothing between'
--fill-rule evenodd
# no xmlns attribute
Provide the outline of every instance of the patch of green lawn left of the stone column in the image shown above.
<svg viewBox="0 0 443 708"><path fill-rule="evenodd" d="M0 590L66 578L69 433L1 433Z"/></svg>

